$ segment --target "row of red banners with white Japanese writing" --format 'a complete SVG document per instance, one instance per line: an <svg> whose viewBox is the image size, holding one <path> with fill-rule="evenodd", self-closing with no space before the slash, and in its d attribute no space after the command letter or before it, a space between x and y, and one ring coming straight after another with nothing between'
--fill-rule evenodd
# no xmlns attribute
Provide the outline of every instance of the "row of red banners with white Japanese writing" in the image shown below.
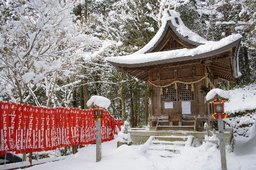
<svg viewBox="0 0 256 170"><path fill-rule="evenodd" d="M96 142L93 112L77 108L43 108L0 102L0 155L39 152ZM102 142L114 139L122 120L104 111ZM118 127L116 129L115 127Z"/></svg>

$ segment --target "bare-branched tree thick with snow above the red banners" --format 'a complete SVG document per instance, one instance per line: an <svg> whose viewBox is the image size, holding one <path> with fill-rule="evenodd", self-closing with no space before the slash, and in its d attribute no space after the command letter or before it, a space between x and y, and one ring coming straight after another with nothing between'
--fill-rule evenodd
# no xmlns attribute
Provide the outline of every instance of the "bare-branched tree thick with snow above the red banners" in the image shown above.
<svg viewBox="0 0 256 170"><path fill-rule="evenodd" d="M73 23L74 1L2 1L0 29L1 95L17 103L32 97L36 105L54 99L58 79L72 74L70 65L89 36ZM43 88L46 103L36 92Z"/></svg>

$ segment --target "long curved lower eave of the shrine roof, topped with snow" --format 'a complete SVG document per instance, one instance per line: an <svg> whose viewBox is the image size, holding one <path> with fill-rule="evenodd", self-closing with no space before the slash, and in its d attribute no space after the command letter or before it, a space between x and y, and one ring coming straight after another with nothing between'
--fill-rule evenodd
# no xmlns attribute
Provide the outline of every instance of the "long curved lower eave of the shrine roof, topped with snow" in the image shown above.
<svg viewBox="0 0 256 170"><path fill-rule="evenodd" d="M190 58L195 59L200 58L202 56L200 54L206 54L214 50L224 48L225 46L228 46L233 42L235 42L234 45L236 46L236 44L238 43L236 41L240 41L241 37L242 36L238 33L236 35L230 35L228 37L225 37L220 41L207 41L205 42L205 44L197 46L193 49L183 48L146 54L134 53L127 56L106 57L106 61L112 63L113 65L115 65L114 63L119 63L121 65L118 66L136 67L136 64L139 64L138 66L152 65L152 62L155 61L159 61L157 63L166 63L172 61L183 61Z"/></svg>

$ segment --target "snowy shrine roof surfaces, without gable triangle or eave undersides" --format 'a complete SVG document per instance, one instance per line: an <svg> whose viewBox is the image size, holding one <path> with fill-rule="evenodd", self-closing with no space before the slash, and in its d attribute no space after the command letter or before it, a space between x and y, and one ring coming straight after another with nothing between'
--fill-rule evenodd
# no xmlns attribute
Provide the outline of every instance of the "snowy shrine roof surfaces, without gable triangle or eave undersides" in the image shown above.
<svg viewBox="0 0 256 170"><path fill-rule="evenodd" d="M155 46L160 43L160 40L163 39L164 36L166 36L167 27L172 29L176 37L187 41L188 44L194 45L195 48L183 48L152 53L152 49L154 49ZM207 41L203 39L203 37L197 35L195 32L192 32L189 28L187 28L180 19L180 14L178 12L173 10L165 10L162 18L162 27L160 27L159 31L152 38L152 40L148 42L148 44L146 44L142 49L138 50L138 52L135 52L134 54L130 54L127 56L106 57L105 59L106 61L112 63L112 65L119 67L136 67L136 64L141 63L144 64L138 66L148 66L152 65L152 62L155 61L163 61L162 63L177 60L182 61L184 59L189 59L188 57L191 57L193 59L196 58L193 56L209 53L214 50L224 48L225 46L228 46L236 41L240 42L241 37L242 36L240 34L236 34L225 37L220 41ZM239 43L234 43L233 46L236 46L236 44ZM233 48L233 46L231 48ZM201 56L197 57L200 58ZM166 59L169 60L166 61Z"/></svg>

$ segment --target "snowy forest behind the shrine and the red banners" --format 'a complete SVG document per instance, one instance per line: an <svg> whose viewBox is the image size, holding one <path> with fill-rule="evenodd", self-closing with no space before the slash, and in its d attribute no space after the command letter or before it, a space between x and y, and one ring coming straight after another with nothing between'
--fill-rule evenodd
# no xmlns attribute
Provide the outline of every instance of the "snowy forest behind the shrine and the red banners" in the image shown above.
<svg viewBox="0 0 256 170"><path fill-rule="evenodd" d="M161 26L165 8L208 41L243 36L241 76L222 89L256 81L256 1L0 0L0 100L88 109L92 95L111 100L115 118L132 128L148 123L147 82L104 60L141 49Z"/></svg>

